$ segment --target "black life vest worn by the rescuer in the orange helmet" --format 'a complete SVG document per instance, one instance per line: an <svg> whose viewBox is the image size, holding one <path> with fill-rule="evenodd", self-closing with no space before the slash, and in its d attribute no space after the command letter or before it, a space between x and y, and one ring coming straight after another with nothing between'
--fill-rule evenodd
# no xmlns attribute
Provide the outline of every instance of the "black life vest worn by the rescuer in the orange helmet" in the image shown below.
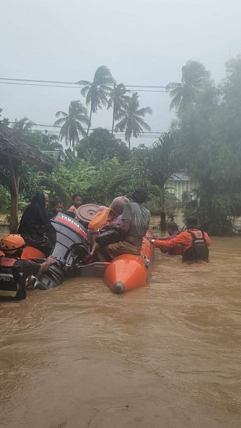
<svg viewBox="0 0 241 428"><path fill-rule="evenodd" d="M0 297L16 298L21 275L14 267L17 258L0 257Z"/></svg>

